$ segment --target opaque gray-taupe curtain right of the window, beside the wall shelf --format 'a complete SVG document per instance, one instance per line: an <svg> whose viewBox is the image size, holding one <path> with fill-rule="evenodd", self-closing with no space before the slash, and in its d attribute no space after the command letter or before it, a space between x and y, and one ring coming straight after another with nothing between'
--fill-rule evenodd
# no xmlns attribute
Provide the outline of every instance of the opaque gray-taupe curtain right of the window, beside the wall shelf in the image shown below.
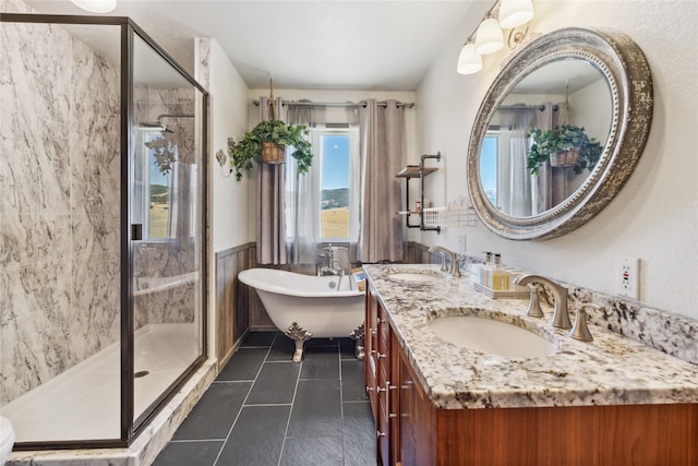
<svg viewBox="0 0 698 466"><path fill-rule="evenodd" d="M369 99L359 111L361 227L357 259L363 263L402 261L400 183L405 111L395 100L385 107Z"/></svg>

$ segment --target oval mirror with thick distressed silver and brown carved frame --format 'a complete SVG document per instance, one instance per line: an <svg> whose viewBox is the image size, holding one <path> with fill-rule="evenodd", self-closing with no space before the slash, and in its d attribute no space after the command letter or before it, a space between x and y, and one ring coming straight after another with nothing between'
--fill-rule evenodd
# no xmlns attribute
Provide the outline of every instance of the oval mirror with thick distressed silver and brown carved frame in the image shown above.
<svg viewBox="0 0 698 466"><path fill-rule="evenodd" d="M531 41L493 82L470 136L482 223L527 240L589 220L637 165L652 99L645 56L623 34L576 27Z"/></svg>

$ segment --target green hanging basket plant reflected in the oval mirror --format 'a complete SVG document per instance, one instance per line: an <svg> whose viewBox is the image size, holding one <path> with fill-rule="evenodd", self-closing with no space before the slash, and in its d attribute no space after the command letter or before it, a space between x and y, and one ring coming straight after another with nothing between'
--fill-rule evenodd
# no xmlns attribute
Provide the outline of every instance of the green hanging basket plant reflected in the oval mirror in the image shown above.
<svg viewBox="0 0 698 466"><path fill-rule="evenodd" d="M561 124L545 131L531 128L527 136L533 138L526 160L531 175L538 175L539 167L546 162L553 167L573 167L577 175L585 169L591 171L603 153L599 141L574 124Z"/></svg>

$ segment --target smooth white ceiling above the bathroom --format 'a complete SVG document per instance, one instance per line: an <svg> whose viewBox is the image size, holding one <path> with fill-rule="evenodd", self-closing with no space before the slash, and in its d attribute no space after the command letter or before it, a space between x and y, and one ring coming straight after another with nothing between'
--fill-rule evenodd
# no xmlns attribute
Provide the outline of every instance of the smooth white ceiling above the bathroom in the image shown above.
<svg viewBox="0 0 698 466"><path fill-rule="evenodd" d="M85 14L69 0L25 1ZM215 37L250 88L273 76L276 88L413 91L477 3L477 24L491 2L119 0L110 15L133 19L192 74L194 37Z"/></svg>

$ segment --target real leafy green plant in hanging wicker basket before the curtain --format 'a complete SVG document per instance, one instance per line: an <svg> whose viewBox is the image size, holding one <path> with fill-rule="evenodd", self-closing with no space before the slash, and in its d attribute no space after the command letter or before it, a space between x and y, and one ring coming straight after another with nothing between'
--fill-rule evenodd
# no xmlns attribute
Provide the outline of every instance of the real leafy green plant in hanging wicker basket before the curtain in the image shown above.
<svg viewBox="0 0 698 466"><path fill-rule="evenodd" d="M304 124L286 124L281 120L270 119L246 132L238 143L229 139L228 151L236 179L240 181L253 163L282 164L287 146L292 147L290 155L298 162L298 171L306 174L313 160L311 143L306 139L309 134L310 130Z"/></svg>

